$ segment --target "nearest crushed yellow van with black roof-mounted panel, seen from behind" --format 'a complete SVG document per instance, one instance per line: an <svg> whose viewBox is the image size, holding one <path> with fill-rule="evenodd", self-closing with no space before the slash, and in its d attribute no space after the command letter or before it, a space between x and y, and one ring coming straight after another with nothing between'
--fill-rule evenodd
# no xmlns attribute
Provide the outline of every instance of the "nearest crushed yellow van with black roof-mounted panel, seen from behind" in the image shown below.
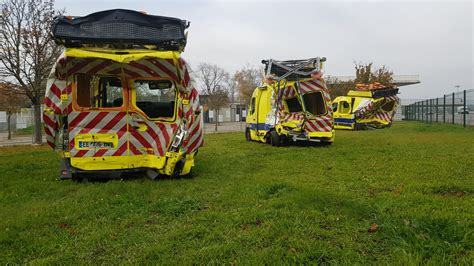
<svg viewBox="0 0 474 266"><path fill-rule="evenodd" d="M181 57L186 21L130 10L58 17L65 46L49 76L47 143L61 178L187 175L203 143L199 97Z"/></svg>

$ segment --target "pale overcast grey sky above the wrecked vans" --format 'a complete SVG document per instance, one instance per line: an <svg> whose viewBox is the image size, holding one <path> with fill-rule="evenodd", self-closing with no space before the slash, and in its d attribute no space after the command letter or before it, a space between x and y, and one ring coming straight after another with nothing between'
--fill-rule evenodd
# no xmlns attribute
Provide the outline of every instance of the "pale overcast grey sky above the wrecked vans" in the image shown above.
<svg viewBox="0 0 474 266"><path fill-rule="evenodd" d="M125 8L191 21L183 56L233 73L262 59L327 57L326 75L354 75L354 61L419 74L403 99L474 89L471 1L56 0L68 15Z"/></svg>

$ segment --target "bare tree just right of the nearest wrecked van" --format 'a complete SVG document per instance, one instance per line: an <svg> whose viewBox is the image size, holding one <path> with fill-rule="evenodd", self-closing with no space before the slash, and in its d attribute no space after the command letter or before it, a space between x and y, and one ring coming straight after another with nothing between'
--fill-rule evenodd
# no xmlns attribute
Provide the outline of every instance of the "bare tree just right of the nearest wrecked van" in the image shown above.
<svg viewBox="0 0 474 266"><path fill-rule="evenodd" d="M215 120L219 125L219 109L226 106L229 102L229 73L217 65L201 63L195 72L198 80L204 87L204 94L207 98L209 109L214 109Z"/></svg>

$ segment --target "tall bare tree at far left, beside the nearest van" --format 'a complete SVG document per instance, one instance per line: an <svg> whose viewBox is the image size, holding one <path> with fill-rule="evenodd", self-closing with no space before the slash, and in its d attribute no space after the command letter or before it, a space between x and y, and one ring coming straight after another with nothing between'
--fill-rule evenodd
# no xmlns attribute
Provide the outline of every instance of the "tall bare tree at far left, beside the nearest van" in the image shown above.
<svg viewBox="0 0 474 266"><path fill-rule="evenodd" d="M0 17L0 77L20 88L34 108L35 143L42 142L41 102L61 53L51 38L54 0L5 0Z"/></svg>

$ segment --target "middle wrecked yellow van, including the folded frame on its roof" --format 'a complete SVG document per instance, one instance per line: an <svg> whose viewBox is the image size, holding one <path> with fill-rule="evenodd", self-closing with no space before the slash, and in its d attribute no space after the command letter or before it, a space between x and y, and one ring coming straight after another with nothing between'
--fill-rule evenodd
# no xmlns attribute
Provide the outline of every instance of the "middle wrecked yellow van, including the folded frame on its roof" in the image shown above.
<svg viewBox="0 0 474 266"><path fill-rule="evenodd" d="M334 141L331 99L321 77L325 60L262 61L265 81L252 94L247 140L277 147L296 141Z"/></svg>

